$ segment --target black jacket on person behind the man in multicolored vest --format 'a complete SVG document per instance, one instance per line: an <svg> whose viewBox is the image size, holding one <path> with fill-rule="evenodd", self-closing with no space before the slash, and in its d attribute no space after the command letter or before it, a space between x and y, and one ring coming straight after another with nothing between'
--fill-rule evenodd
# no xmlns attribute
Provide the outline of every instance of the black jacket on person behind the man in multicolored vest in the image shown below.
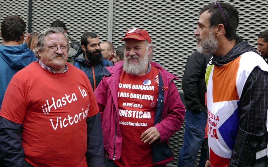
<svg viewBox="0 0 268 167"><path fill-rule="evenodd" d="M192 110L192 112L204 111L207 114L205 107L205 73L211 57L212 54L207 55L195 51L187 60L182 78L186 110Z"/></svg>

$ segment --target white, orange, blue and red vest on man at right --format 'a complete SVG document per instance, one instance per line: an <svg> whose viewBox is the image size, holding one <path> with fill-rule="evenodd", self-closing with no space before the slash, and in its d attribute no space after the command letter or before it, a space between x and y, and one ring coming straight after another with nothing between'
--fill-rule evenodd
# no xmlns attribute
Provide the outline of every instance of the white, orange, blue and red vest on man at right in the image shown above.
<svg viewBox="0 0 268 167"><path fill-rule="evenodd" d="M248 51L220 67L208 65L206 70L208 106L208 145L211 166L228 166L239 127L239 100L252 70L259 66L268 71L267 63ZM266 150L257 152L256 159Z"/></svg>

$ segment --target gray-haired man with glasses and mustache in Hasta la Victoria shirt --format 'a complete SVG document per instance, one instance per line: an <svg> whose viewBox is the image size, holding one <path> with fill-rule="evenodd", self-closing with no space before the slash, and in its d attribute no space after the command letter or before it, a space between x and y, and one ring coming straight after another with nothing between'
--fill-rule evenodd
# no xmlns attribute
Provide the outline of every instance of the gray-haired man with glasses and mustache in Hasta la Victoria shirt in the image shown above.
<svg viewBox="0 0 268 167"><path fill-rule="evenodd" d="M88 77L66 63L70 43L62 28L37 38L39 61L14 75L0 111L6 165L103 166L100 113Z"/></svg>

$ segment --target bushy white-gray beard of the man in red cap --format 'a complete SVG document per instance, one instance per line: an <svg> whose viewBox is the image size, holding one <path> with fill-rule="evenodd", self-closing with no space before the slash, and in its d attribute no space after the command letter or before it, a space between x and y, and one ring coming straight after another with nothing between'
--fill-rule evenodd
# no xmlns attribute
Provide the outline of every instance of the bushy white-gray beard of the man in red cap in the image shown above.
<svg viewBox="0 0 268 167"><path fill-rule="evenodd" d="M125 71L126 73L131 74L131 75L139 75L148 68L149 55L148 55L147 50L146 50L145 55L142 58L139 58L139 62L137 64L129 63L128 59L131 59L131 58L139 58L139 57L129 56L126 58L124 54L124 63L122 66L123 66L123 71Z"/></svg>

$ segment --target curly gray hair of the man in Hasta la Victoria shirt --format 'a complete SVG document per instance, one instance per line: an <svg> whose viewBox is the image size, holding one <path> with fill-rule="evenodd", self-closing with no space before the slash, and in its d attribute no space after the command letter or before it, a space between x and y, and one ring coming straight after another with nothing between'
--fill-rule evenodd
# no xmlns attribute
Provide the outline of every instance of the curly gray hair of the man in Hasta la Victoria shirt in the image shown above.
<svg viewBox="0 0 268 167"><path fill-rule="evenodd" d="M36 56L37 59L40 59L38 51L43 50L43 46L44 46L44 43L45 43L44 38L46 36L48 36L50 34L54 34L54 33L56 33L56 34L61 33L61 34L64 35L64 37L66 38L66 41L67 41L67 47L68 47L68 51L69 51L69 48L71 46L71 44L70 44L71 41L69 41L68 37L65 35L64 29L63 28L58 28L58 27L50 27L50 28L42 31L41 33L39 33L37 35L37 41L36 41L36 46L35 46L36 50L34 50L34 53L35 53L35 56Z"/></svg>

